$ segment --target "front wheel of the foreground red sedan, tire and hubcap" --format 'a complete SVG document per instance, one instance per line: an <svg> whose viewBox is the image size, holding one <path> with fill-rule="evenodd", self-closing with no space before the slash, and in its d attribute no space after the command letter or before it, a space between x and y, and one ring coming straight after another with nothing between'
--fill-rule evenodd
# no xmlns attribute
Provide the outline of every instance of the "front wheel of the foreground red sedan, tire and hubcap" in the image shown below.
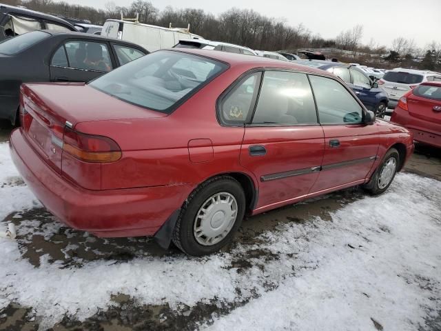
<svg viewBox="0 0 441 331"><path fill-rule="evenodd" d="M395 166L392 170L391 164L393 163ZM398 153L398 150L396 150L395 148L391 148L384 155L382 162L380 163L380 165L378 165L376 172L373 173L369 183L363 185L362 188L367 190L367 192L369 192L371 195L382 194L382 192L387 190L387 188L389 188L389 185L391 185L393 178L395 178L395 174L399 165L400 154Z"/></svg>

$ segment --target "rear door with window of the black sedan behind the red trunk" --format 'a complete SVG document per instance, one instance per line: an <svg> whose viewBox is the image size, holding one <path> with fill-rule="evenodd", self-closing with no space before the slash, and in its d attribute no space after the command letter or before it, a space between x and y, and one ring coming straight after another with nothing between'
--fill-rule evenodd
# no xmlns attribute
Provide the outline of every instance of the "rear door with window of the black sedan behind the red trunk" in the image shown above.
<svg viewBox="0 0 441 331"><path fill-rule="evenodd" d="M51 81L91 81L112 70L107 43L72 40L59 46L50 60Z"/></svg>

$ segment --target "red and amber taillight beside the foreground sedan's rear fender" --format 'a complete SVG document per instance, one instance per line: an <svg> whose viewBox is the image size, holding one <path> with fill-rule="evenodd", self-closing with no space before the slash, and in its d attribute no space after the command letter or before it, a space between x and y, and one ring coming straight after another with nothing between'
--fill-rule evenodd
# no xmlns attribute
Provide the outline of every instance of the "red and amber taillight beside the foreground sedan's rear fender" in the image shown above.
<svg viewBox="0 0 441 331"><path fill-rule="evenodd" d="M121 159L121 148L108 137L64 129L63 151L85 162L107 163Z"/></svg>

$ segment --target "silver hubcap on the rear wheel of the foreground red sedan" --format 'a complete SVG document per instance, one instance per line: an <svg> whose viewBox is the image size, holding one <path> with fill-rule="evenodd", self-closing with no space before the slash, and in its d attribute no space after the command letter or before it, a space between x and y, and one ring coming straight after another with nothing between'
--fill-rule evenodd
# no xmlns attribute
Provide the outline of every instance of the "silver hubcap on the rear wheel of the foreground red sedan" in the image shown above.
<svg viewBox="0 0 441 331"><path fill-rule="evenodd" d="M196 214L194 238L201 245L215 245L229 234L236 218L236 198L227 192L216 193L205 200Z"/></svg>

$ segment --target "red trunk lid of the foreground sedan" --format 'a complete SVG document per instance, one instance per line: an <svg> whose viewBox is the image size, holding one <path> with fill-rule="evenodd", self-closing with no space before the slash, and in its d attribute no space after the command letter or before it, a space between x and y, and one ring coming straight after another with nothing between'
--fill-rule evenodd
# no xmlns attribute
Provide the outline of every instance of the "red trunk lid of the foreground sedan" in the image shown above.
<svg viewBox="0 0 441 331"><path fill-rule="evenodd" d="M165 117L95 90L85 83L30 83L21 86L21 126L31 145L62 173L65 126L86 121Z"/></svg>

